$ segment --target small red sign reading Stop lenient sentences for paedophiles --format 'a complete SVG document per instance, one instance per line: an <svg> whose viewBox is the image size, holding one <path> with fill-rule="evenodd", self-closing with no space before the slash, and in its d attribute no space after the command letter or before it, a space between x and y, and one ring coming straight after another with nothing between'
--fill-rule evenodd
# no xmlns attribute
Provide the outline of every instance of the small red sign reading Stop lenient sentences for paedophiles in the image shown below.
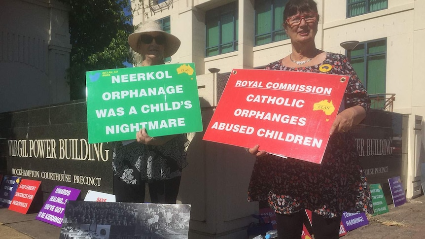
<svg viewBox="0 0 425 239"><path fill-rule="evenodd" d="M35 193L37 192L40 183L41 181L22 179L15 192L15 196L13 196L9 210L27 214L31 203L33 203Z"/></svg>

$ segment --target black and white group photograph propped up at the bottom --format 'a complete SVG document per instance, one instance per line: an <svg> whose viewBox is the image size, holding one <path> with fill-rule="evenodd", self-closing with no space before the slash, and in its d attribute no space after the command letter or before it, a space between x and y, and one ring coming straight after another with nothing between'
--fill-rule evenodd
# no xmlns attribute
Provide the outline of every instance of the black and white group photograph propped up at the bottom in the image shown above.
<svg viewBox="0 0 425 239"><path fill-rule="evenodd" d="M69 201L60 239L187 239L190 205Z"/></svg>

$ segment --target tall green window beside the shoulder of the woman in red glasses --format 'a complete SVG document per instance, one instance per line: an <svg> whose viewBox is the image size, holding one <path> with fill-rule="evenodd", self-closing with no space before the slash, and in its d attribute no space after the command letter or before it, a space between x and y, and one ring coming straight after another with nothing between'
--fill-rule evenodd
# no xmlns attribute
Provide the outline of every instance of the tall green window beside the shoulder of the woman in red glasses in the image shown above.
<svg viewBox="0 0 425 239"><path fill-rule="evenodd" d="M350 61L369 94L386 93L387 39L358 44Z"/></svg>

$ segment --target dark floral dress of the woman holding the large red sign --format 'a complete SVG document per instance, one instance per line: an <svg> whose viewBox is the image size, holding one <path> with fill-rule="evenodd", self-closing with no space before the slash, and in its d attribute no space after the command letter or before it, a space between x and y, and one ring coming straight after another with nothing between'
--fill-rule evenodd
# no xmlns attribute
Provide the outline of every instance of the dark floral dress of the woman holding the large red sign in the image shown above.
<svg viewBox="0 0 425 239"><path fill-rule="evenodd" d="M323 72L323 65L332 66ZM328 65L327 65L328 66ZM317 72L350 76L345 92L345 108L370 107L370 99L347 58L326 53L326 59L311 67L289 68L282 60L266 69ZM320 70L322 69L322 70ZM330 137L321 164L274 155L257 158L248 188L248 201L267 201L277 213L291 214L302 209L332 218L343 211L373 213L369 185L358 161L352 134Z"/></svg>

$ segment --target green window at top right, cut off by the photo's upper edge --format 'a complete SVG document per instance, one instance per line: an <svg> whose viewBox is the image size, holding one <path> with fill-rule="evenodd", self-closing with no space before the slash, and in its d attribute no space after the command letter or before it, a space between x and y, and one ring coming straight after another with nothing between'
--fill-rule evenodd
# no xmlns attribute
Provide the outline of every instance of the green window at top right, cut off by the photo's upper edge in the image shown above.
<svg viewBox="0 0 425 239"><path fill-rule="evenodd" d="M388 8L388 0L347 0L347 17Z"/></svg>

